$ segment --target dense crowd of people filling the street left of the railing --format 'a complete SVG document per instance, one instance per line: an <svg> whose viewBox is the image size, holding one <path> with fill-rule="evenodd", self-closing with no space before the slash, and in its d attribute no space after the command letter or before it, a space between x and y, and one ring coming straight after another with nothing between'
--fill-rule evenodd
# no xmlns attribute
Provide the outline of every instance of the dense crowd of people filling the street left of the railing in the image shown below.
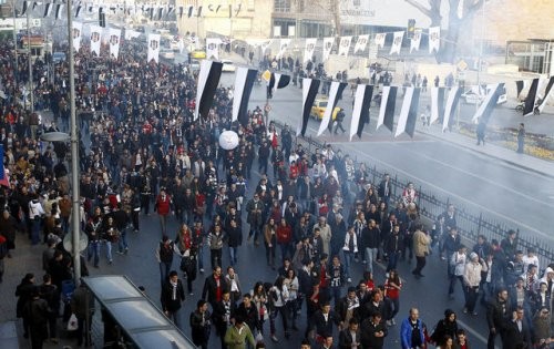
<svg viewBox="0 0 554 349"><path fill-rule="evenodd" d="M432 228L424 226L413 184L393 197L390 176L372 183L365 165L340 150L327 145L310 152L295 144L288 127L268 124L258 106L247 126L232 123L232 89L219 88L209 115L194 121L195 75L185 66L146 63L136 42L122 45L125 59L120 60L89 51L84 45L75 57L81 140L90 138L81 143L79 158L81 225L89 238L82 275L88 266L100 268L102 256L112 264L113 248L121 255L133 248L127 235L141 232L143 216L160 222L161 308L202 348L215 337L222 348L263 347L264 340L279 342L299 330L305 339L297 345L304 349L391 348L387 336L398 319L403 349L428 343L468 349L454 310L447 309L435 327L419 318L417 307L399 315L407 276L399 275L398 264L416 259L412 274L421 278L434 250L448 266L445 296L453 297L460 281L463 312L476 316L478 301L485 305L489 348L495 337L504 348L550 347L554 267L540 278L538 259L533 250L519 250L515 233L490 244L481 236L469 249L458 234L454 206ZM68 147L39 138L58 130L58 120L68 130L68 65L55 65L52 84L48 79L39 83L48 64L39 60L34 65L35 93L47 101L35 109L48 107L53 115L41 123L19 104L11 50L3 47L0 53L8 96L0 100L0 142L10 171L1 196L0 260L12 257L20 236L45 244L43 284L28 274L16 291L24 336L33 348L45 339L55 342L63 309L65 320L76 316L78 345L86 345L83 327L90 314L82 305L91 296L78 287L62 306L72 277L63 237L74 214ZM235 150L218 145L224 130L239 135ZM168 219L178 223L177 234L168 229ZM240 283L236 269L246 244L264 245L271 275L253 285ZM183 277L173 269L175 261ZM358 279L357 266L363 269ZM384 278L373 278L380 266ZM198 274L207 276L199 280ZM183 321L179 309L185 298L194 301L195 285L202 289L196 309Z"/></svg>

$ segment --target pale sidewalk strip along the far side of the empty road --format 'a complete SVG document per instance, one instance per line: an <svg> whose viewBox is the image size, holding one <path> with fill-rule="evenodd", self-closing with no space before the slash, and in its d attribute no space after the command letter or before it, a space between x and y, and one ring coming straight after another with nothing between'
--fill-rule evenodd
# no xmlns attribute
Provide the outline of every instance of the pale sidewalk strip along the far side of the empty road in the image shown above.
<svg viewBox="0 0 554 349"><path fill-rule="evenodd" d="M486 143L484 146L476 145L474 138L464 136L455 131L443 133L442 125L431 125L429 129L418 127L417 132L437 140L462 146L479 154L501 160L510 165L554 178L554 163L552 162L540 160L526 154L519 154L512 150L491 143Z"/></svg>

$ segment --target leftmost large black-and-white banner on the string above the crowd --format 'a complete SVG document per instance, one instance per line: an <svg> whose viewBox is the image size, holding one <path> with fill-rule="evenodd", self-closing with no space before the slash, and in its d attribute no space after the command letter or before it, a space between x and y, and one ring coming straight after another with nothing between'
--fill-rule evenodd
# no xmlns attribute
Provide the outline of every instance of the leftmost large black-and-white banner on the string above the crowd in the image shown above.
<svg viewBox="0 0 554 349"><path fill-rule="evenodd" d="M207 117L209 109L214 102L215 91L222 78L222 62L203 60L201 72L198 73L198 88L196 91L196 109L194 110L194 120L198 116Z"/></svg>

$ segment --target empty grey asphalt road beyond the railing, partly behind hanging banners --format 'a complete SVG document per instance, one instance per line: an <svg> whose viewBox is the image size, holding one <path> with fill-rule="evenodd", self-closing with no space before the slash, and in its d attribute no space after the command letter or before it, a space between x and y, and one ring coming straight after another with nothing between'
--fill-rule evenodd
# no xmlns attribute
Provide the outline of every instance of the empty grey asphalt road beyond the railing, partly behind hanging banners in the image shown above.
<svg viewBox="0 0 554 349"><path fill-rule="evenodd" d="M232 78L224 75L222 82L227 85L230 80ZM420 109L428 104L429 100L430 95L424 94ZM265 88L255 86L250 109L263 106L265 101ZM398 99L396 120L401 103L402 99ZM278 90L274 93L270 104L270 120L279 120L296 130L301 112L300 90L294 86ZM471 120L475 111L474 105L460 105L460 120ZM377 106L371 107L370 124L365 127L362 138L355 136L353 142L349 142L347 134L352 109L349 89L345 91L345 99L338 106L346 110L343 125L347 133L335 136L326 132L320 136L321 142L334 143L341 147L343 153L371 166L377 165L378 168L396 173L414 182L416 187L421 185L425 191L434 192L438 197L444 199L448 197L450 202L470 212L478 215L482 212L499 222L520 228L522 236L538 237L547 244L554 244L554 236L550 234L550 213L554 208L554 184L551 178L421 133L416 133L411 140L407 135L394 138L384 127L376 131L379 113ZM515 111L499 106L491 120L505 117L510 113ZM416 130L420 127L422 124L418 121ZM315 137L318 129L319 122L310 120L306 135Z"/></svg>

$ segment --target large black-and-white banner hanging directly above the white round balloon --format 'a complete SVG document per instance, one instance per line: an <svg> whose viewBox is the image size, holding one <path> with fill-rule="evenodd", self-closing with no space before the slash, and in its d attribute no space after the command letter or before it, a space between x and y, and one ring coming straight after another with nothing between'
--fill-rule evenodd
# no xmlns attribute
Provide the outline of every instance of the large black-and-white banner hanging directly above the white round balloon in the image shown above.
<svg viewBox="0 0 554 349"><path fill-rule="evenodd" d="M238 66L235 74L235 93L233 95L233 121L238 120L243 126L248 125L248 101L258 71Z"/></svg>

